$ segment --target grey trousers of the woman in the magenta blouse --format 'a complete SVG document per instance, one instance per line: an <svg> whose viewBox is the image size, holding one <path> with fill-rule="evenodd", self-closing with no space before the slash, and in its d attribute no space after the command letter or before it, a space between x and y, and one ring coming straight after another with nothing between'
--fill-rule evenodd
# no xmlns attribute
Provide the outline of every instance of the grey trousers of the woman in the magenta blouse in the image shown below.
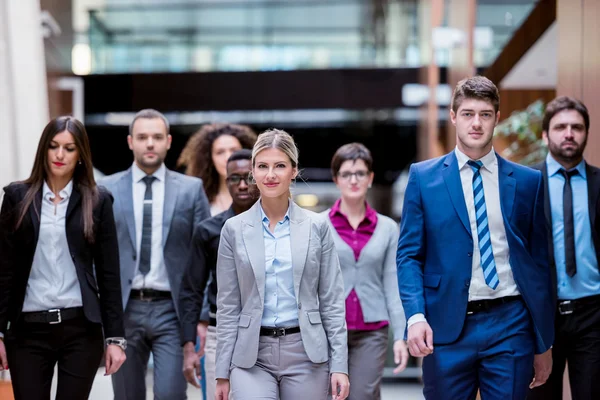
<svg viewBox="0 0 600 400"><path fill-rule="evenodd" d="M388 346L388 327L348 331L349 400L379 400Z"/></svg>

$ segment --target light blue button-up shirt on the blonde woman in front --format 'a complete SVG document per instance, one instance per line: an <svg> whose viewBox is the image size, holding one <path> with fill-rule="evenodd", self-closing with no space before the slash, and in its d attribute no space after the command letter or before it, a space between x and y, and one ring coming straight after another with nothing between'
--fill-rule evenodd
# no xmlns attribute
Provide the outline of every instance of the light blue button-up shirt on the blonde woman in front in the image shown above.
<svg viewBox="0 0 600 400"><path fill-rule="evenodd" d="M265 305L262 326L290 328L298 326L298 307L294 294L292 244L289 209L282 221L269 230L269 218L262 207L265 240Z"/></svg>

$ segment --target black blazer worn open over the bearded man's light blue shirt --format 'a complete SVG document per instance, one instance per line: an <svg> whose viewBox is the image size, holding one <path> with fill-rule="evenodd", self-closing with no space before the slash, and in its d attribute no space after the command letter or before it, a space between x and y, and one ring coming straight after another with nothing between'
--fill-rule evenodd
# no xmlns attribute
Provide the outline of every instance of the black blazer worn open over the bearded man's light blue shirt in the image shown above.
<svg viewBox="0 0 600 400"><path fill-rule="evenodd" d="M550 272L552 275L552 290L554 299L557 295L556 263L554 261L554 240L552 237L552 209L550 207L550 192L548 190L548 168L546 162L532 165L532 168L542 171L544 178L544 213L546 215L546 228L548 229L548 258L550 261ZM588 186L588 207L590 225L592 227L592 241L596 251L596 259L600 269L600 168L585 163Z"/></svg>

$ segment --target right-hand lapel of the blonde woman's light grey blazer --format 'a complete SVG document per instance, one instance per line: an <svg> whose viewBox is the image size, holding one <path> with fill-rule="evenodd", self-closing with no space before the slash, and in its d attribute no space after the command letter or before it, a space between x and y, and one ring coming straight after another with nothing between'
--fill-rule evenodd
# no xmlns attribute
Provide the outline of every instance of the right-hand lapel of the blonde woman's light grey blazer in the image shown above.
<svg viewBox="0 0 600 400"><path fill-rule="evenodd" d="M300 293L300 281L310 241L311 223L304 211L290 200L290 243L292 244L292 270L294 271L294 292Z"/></svg>

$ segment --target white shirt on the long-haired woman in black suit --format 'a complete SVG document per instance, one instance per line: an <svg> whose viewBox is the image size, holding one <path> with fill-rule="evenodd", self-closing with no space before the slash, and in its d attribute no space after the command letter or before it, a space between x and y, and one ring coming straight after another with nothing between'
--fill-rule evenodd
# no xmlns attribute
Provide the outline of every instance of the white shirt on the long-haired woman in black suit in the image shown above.
<svg viewBox="0 0 600 400"><path fill-rule="evenodd" d="M58 204L53 203L55 195L46 182L42 190L39 238L27 281L23 312L83 305L65 229L73 181L60 191L62 200Z"/></svg>

